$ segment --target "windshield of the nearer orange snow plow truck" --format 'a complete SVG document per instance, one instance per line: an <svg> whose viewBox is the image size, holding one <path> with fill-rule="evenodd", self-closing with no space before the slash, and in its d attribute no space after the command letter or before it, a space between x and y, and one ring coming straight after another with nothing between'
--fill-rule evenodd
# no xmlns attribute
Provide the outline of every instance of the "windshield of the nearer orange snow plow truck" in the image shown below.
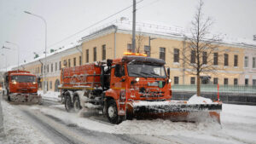
<svg viewBox="0 0 256 144"><path fill-rule="evenodd" d="M130 77L166 78L166 71L164 66L132 64L127 65L127 67Z"/></svg>

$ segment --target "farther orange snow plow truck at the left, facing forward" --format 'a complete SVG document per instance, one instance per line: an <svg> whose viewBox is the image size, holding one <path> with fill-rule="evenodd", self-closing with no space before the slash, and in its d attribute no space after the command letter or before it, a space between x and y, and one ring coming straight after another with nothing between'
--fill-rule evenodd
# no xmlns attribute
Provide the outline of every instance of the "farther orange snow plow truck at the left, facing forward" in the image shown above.
<svg viewBox="0 0 256 144"><path fill-rule="evenodd" d="M41 103L38 95L38 83L35 75L26 71L9 71L4 73L4 94L8 101Z"/></svg>

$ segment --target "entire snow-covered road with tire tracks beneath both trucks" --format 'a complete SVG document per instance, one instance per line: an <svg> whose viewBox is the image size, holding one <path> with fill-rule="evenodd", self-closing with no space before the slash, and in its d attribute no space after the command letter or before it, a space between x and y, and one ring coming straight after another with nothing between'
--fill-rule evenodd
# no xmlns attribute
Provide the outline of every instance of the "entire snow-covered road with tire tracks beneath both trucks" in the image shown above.
<svg viewBox="0 0 256 144"><path fill-rule="evenodd" d="M161 119L113 125L88 112L68 113L55 101L44 100L42 106L1 102L3 143L256 143L256 107L252 106L224 104L221 125Z"/></svg>

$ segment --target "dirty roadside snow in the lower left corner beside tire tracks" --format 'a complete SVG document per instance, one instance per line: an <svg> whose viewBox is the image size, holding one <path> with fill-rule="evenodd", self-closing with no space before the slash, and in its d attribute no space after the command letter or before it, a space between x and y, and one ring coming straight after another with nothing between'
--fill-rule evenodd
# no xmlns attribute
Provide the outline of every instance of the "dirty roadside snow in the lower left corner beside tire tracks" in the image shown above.
<svg viewBox="0 0 256 144"><path fill-rule="evenodd" d="M1 102L3 107L3 128L5 137L0 143L52 143L49 139L44 137L38 129L29 124L26 117L19 109L9 105L6 101Z"/></svg>

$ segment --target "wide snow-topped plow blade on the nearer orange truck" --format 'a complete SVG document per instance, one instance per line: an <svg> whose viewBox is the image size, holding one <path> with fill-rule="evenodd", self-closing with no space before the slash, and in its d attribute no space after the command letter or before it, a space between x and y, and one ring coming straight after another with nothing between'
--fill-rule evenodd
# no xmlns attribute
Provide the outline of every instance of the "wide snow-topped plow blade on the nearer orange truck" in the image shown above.
<svg viewBox="0 0 256 144"><path fill-rule="evenodd" d="M128 107L137 118L168 118L172 121L197 122L215 118L220 124L222 103L187 104L187 101L134 101Z"/></svg>

